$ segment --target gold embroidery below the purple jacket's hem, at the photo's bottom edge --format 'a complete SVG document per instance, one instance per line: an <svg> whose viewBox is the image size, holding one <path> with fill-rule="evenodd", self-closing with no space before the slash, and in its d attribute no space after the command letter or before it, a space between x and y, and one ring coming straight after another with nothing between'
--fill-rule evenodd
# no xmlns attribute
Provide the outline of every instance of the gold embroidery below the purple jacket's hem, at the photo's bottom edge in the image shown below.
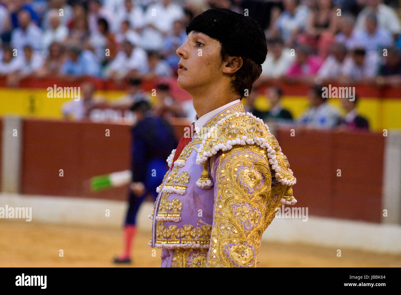
<svg viewBox="0 0 401 295"><path fill-rule="evenodd" d="M206 267L206 249L178 248L173 251L171 267Z"/></svg>

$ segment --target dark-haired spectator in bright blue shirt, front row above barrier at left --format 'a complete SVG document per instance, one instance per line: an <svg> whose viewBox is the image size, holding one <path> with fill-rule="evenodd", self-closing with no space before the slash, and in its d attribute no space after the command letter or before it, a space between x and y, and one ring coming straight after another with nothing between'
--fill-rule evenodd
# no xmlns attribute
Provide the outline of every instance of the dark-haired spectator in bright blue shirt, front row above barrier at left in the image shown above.
<svg viewBox="0 0 401 295"><path fill-rule="evenodd" d="M82 51L77 45L67 50L67 59L61 66L61 78L78 79L83 76L99 76L100 65L95 55L89 51Z"/></svg>

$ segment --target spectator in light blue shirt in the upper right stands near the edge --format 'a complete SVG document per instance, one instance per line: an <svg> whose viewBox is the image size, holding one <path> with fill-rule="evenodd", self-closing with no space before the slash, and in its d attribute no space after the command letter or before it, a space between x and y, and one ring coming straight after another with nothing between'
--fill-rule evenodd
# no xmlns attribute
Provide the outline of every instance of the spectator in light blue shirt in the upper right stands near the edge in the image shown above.
<svg viewBox="0 0 401 295"><path fill-rule="evenodd" d="M366 51L381 51L393 41L389 31L377 25L377 17L374 13L365 17L365 30L355 32L355 43L364 47Z"/></svg>

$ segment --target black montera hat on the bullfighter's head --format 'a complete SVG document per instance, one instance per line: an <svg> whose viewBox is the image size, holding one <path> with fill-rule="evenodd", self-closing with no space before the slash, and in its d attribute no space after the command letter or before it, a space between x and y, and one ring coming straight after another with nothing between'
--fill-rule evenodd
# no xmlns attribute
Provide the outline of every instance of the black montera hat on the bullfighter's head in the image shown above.
<svg viewBox="0 0 401 295"><path fill-rule="evenodd" d="M205 33L219 40L230 56L248 57L259 65L266 59L265 33L250 16L215 7L191 20L186 26L186 34L190 31Z"/></svg>

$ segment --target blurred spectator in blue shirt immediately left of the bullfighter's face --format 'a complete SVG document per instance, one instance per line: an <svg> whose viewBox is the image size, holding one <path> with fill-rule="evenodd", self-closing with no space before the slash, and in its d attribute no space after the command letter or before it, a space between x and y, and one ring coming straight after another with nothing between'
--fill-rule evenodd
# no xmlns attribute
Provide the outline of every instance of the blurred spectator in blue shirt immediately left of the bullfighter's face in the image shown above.
<svg viewBox="0 0 401 295"><path fill-rule="evenodd" d="M174 72L178 70L178 63L180 62L180 57L177 55L176 50L186 40L187 36L183 22L181 20L174 20L172 33L168 34L164 39L164 45L160 52L168 65L174 69Z"/></svg>

